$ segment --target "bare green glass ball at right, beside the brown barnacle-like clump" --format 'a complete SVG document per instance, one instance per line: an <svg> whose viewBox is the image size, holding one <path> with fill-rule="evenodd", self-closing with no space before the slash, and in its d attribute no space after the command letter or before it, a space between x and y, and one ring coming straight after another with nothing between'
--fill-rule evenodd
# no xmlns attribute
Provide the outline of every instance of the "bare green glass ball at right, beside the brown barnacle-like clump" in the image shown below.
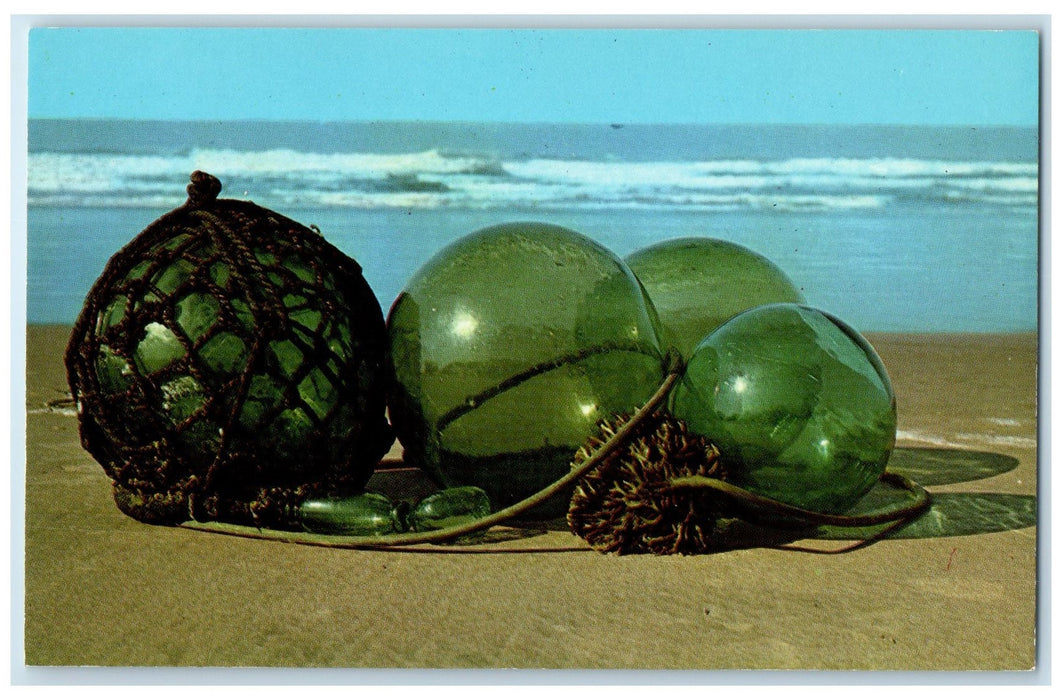
<svg viewBox="0 0 1062 700"><path fill-rule="evenodd" d="M712 440L729 480L764 496L843 513L878 480L896 402L870 343L807 306L744 311L698 345L670 409Z"/></svg>

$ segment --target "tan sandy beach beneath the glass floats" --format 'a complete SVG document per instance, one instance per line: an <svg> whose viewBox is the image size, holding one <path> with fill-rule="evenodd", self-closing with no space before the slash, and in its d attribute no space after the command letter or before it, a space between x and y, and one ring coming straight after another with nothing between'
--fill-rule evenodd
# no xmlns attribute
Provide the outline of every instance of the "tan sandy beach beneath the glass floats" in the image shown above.
<svg viewBox="0 0 1062 700"><path fill-rule="evenodd" d="M477 553L338 550L140 524L115 507L72 411L48 407L66 393L68 334L28 329L29 666L1035 664L1034 335L870 336L897 395L894 467L910 469L942 507L1009 508L1014 516L999 527L957 517L939 536L843 554L615 557L585 549L556 522ZM409 472L374 479L423 485Z"/></svg>

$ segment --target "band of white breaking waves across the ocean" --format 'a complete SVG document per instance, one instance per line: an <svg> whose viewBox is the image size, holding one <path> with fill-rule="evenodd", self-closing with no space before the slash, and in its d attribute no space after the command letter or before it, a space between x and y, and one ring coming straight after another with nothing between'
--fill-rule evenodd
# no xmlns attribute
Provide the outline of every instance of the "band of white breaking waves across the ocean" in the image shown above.
<svg viewBox="0 0 1062 700"><path fill-rule="evenodd" d="M830 211L926 201L1034 207L1035 163L917 158L579 160L430 149L31 153L31 206L172 208L193 170L266 206Z"/></svg>

